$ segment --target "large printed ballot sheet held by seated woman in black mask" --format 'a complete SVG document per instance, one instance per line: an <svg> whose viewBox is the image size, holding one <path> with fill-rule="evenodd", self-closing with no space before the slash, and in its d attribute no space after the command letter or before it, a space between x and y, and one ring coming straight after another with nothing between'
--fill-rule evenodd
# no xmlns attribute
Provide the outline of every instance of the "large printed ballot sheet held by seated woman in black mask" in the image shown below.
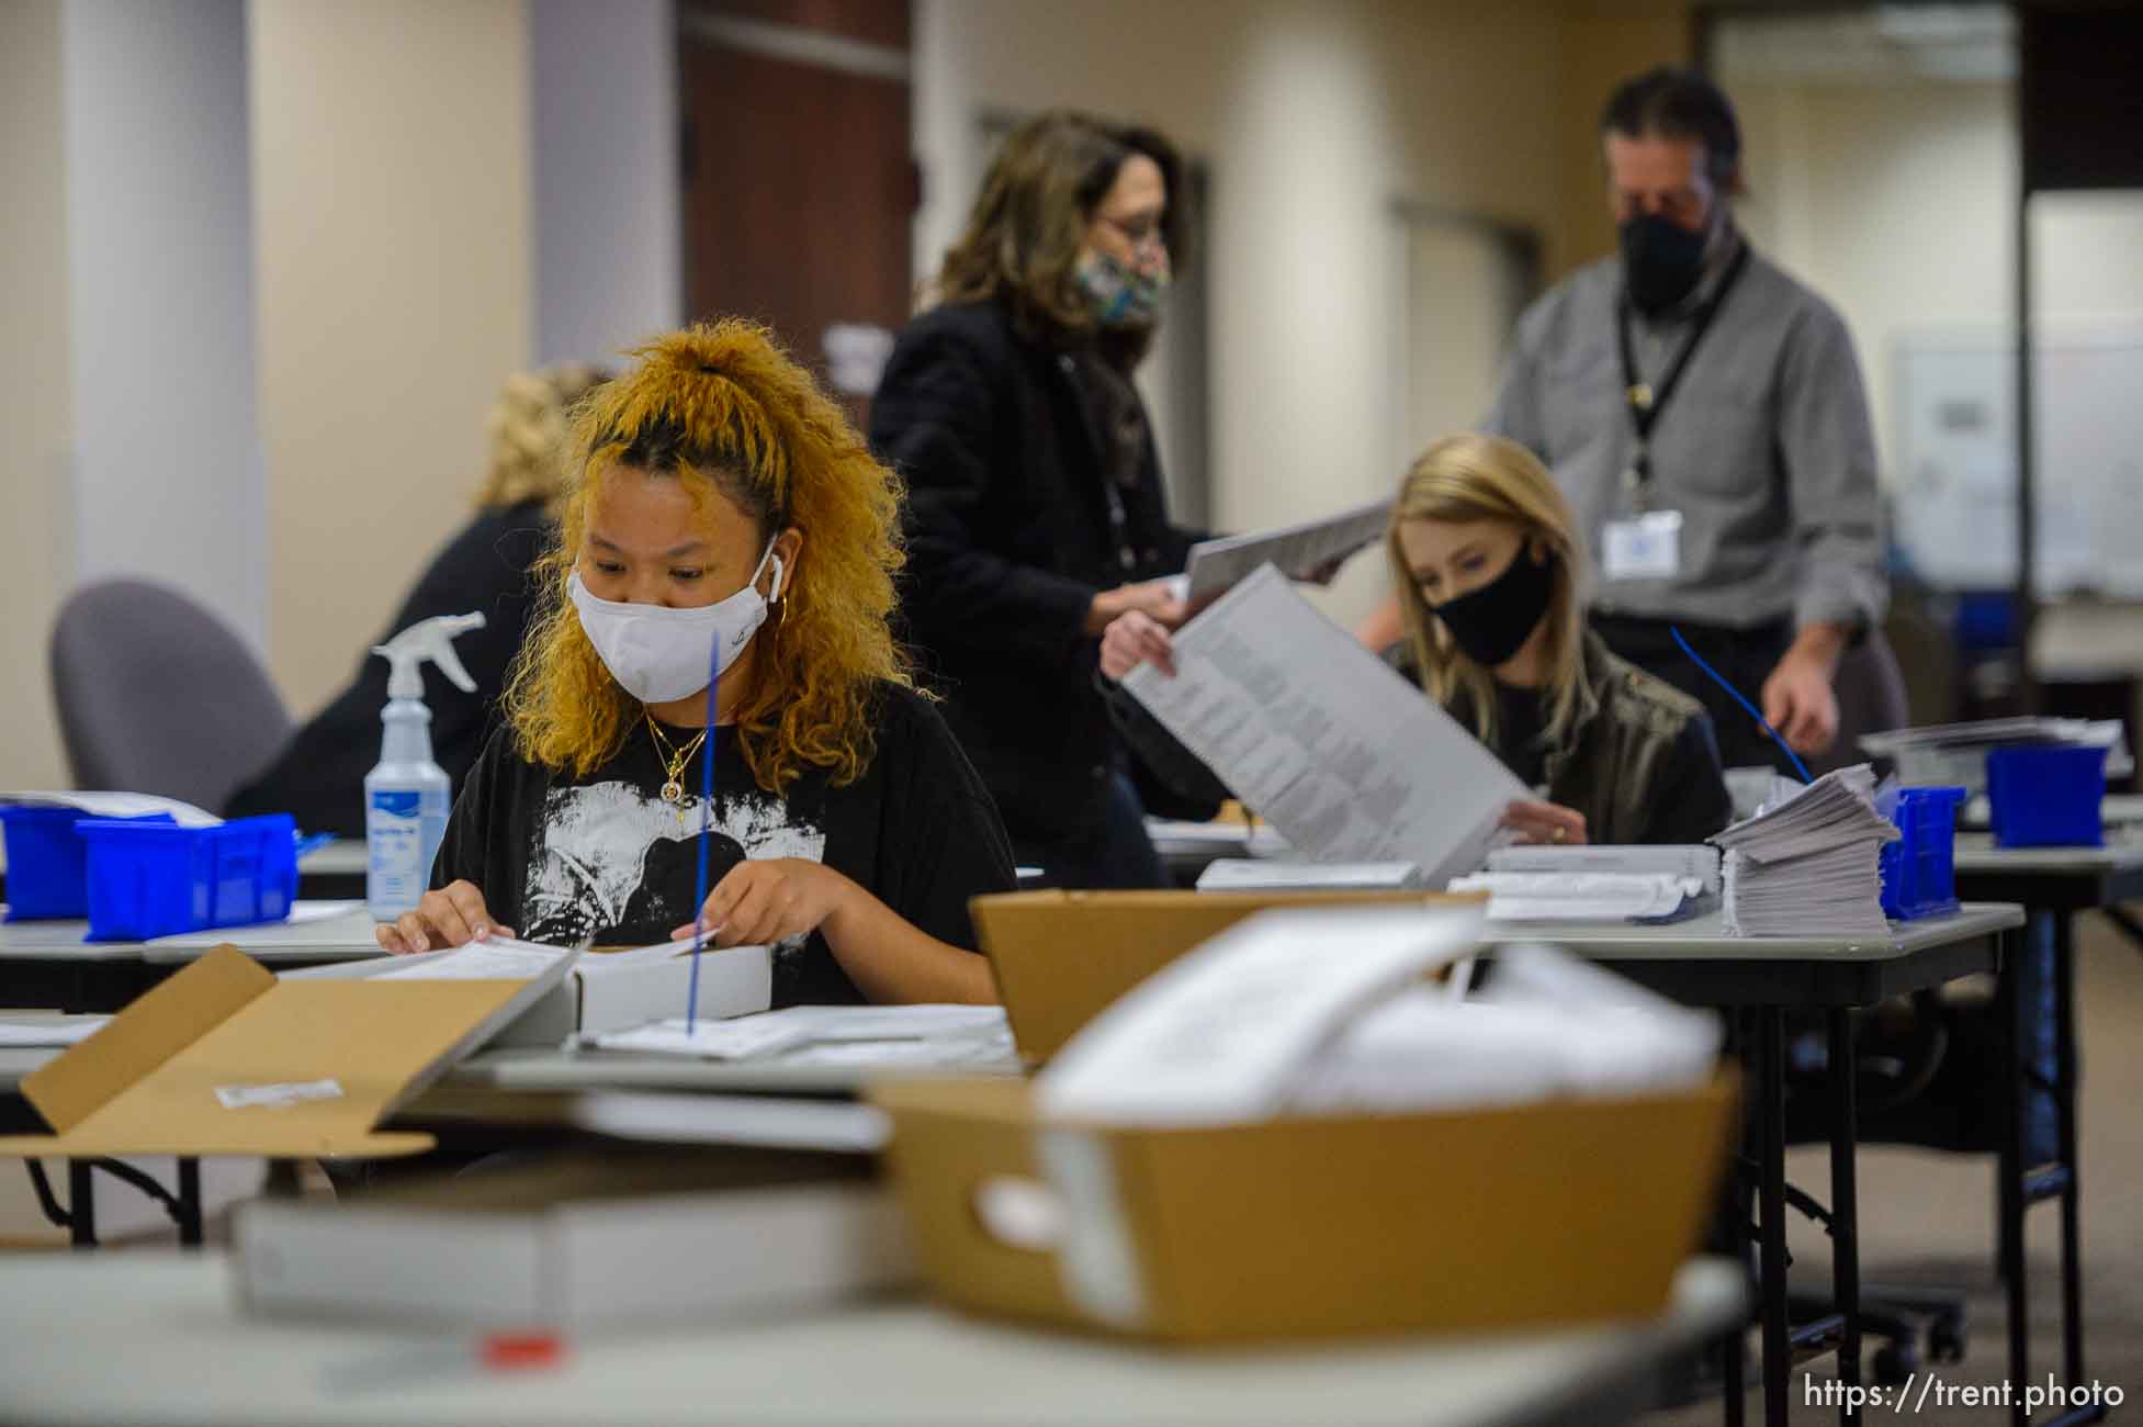
<svg viewBox="0 0 2143 1427"><path fill-rule="evenodd" d="M1530 797L1496 754L1320 615L1271 566L1177 630L1177 673L1123 679L1312 861L1412 861L1429 885L1481 866Z"/></svg>

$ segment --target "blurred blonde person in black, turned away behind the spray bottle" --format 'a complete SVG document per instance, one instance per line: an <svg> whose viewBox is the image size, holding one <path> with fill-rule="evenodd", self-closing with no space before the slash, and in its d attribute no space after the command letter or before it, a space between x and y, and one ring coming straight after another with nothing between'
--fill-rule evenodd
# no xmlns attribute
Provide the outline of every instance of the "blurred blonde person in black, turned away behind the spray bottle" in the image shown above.
<svg viewBox="0 0 2143 1427"><path fill-rule="evenodd" d="M227 816L289 812L306 831L362 838L364 773L379 761L379 709L388 701L388 664L373 645L435 615L476 611L484 628L454 641L476 692L431 686L431 756L461 786L497 726L506 669L529 624L529 566L551 538L555 504L566 489L568 414L606 379L606 371L583 362L516 371L506 379L484 424L491 454L476 514L433 555L379 636L366 641L343 692L289 737L274 763L231 793Z"/></svg>

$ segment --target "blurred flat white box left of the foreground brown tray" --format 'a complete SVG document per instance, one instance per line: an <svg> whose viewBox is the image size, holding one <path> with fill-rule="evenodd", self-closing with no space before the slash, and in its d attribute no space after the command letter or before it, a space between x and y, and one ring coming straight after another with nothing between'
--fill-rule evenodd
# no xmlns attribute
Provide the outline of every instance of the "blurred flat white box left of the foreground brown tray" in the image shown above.
<svg viewBox="0 0 2143 1427"><path fill-rule="evenodd" d="M874 1157L609 1146L231 1223L253 1313L454 1331L793 1313L915 1281Z"/></svg>

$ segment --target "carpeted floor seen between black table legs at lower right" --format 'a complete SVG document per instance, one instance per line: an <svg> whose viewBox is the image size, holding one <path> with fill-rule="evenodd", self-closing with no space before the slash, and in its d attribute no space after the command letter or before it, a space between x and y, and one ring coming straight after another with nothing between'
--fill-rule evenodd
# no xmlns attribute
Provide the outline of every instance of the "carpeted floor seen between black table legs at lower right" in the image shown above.
<svg viewBox="0 0 2143 1427"><path fill-rule="evenodd" d="M2083 1363L2089 1378L2128 1395L2115 1423L2143 1423L2143 949L2102 917L2079 923L2077 994L2083 1048ZM1794 1151L1787 1176L1828 1198L1824 1148ZM1811 1292L1830 1286L1824 1236L1792 1219L1794 1283ZM2032 1380L2059 1380L2059 1208L2042 1204L2029 1217ZM1969 1303L1969 1346L1963 1363L1942 1363L1924 1408L1884 1408L1864 1421L1959 1423L1993 1427L2008 1412L1989 1406L1937 1408L1946 1386L1991 1386L2008 1378L2008 1324L1995 1279L1993 1161L1918 1148L1860 1151L1860 1271L1871 1283L1961 1288ZM1753 1341L1753 1339L1751 1339ZM1873 1346L1871 1346L1873 1348ZM1830 1380L1834 1361L1813 1358L1794 1371L1792 1421L1834 1423L1837 1408L1811 1403L1807 1380ZM1751 1382L1755 1354L1751 1352ZM1924 1373L1922 1373L1924 1376ZM2068 1386L2068 1384L2064 1384ZM1914 1384L1918 1397L1920 1384ZM2044 1414L2040 1414L2044 1416ZM1674 1412L1654 1412L1646 1427L1699 1427L1721 1421L1717 1397ZM1762 1421L1751 1391L1749 1421Z"/></svg>

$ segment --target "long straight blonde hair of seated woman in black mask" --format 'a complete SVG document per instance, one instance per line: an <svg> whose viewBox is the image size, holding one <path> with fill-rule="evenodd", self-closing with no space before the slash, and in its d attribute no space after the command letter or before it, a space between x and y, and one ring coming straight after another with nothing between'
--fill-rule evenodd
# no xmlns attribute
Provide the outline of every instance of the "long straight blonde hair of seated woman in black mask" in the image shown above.
<svg viewBox="0 0 2143 1427"><path fill-rule="evenodd" d="M1552 743L1569 737L1577 722L1584 675L1584 611L1577 602L1584 553L1573 538L1571 506L1556 489L1554 476L1519 446L1494 435L1449 435L1408 467L1399 480L1399 497L1391 506L1391 527L1384 531L1384 553L1391 559L1391 581L1399 589L1399 611L1406 615L1406 639L1421 671L1421 688L1447 707L1466 705L1474 733L1496 746L1496 675L1466 656L1449 630L1436 619L1414 583L1399 546L1399 527L1408 521L1504 521L1517 525L1526 542L1517 559L1528 559L1526 546L1539 542L1554 555L1554 591L1547 600L1547 681L1543 686L1543 722Z"/></svg>

